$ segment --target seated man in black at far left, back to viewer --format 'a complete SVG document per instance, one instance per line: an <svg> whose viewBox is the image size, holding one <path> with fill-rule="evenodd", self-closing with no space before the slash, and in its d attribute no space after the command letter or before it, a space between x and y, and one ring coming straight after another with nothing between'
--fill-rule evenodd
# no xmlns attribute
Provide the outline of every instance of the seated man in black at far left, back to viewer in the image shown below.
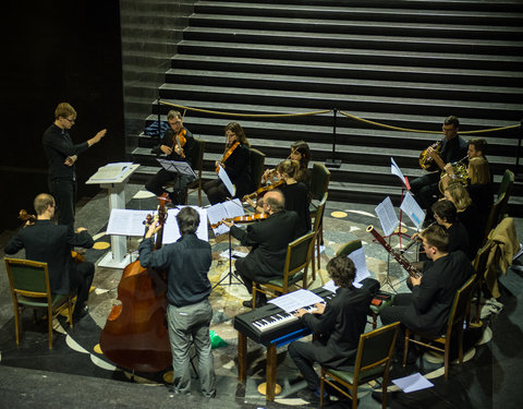
<svg viewBox="0 0 523 409"><path fill-rule="evenodd" d="M76 290L76 304L73 321L78 321L88 312L85 305L95 275L95 265L89 262L75 263L71 254L74 246L90 249L95 243L83 227L74 232L70 225L54 225L54 199L40 193L34 202L36 221L27 222L5 245L7 254L15 254L25 249L25 257L47 263L51 293L69 294Z"/></svg>

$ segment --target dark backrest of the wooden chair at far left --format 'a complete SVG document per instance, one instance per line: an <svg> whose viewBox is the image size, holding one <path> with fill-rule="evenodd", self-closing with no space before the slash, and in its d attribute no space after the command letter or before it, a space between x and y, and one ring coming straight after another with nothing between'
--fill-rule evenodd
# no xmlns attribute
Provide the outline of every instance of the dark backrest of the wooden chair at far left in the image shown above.
<svg viewBox="0 0 523 409"><path fill-rule="evenodd" d="M15 293L27 297L50 296L47 263L5 257L5 269Z"/></svg>

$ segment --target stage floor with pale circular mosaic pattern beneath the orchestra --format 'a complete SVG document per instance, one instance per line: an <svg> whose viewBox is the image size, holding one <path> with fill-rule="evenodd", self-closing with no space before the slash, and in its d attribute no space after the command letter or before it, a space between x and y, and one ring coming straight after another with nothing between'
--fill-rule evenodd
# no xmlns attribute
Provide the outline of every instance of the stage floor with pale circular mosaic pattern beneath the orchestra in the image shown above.
<svg viewBox="0 0 523 409"><path fill-rule="evenodd" d="M156 199L132 199L139 197L136 193L141 187L129 185L126 188L127 208L154 208ZM191 202L196 197L191 197ZM92 201L86 203L78 209L76 226L85 226L95 236L98 243L107 242L108 237L105 236L105 228L108 220L108 203L107 196L100 193ZM376 218L372 206L351 206L348 204L328 203L325 218L325 251L321 254L321 267L318 270L316 280L311 284L311 288L319 287L328 280L325 268L327 261L336 253L337 249L344 242L361 239L364 242L367 267L373 276L382 282L382 289L404 291L404 279L406 273L393 260L388 260L388 253L376 243L373 243L372 236L366 232L365 228L374 224L378 230L379 220ZM520 220L516 220L519 227ZM406 232L412 230L408 229ZM398 238L392 238L391 244L396 245ZM245 385L239 384L236 381L236 332L232 327L232 318L246 310L241 305L243 300L248 299L248 294L242 285L239 285L234 277L229 277L230 272L229 258L220 255L228 251L229 239L227 234L215 238L209 234L209 242L212 245L212 266L209 272L209 278L212 284L217 285L210 296L215 316L211 324L211 330L216 334L215 342L221 344L220 348L214 350L215 366L218 375L218 398L214 402L208 404L198 400L198 382L193 380L194 397L190 407L277 407L277 404L285 407L303 407L306 402L297 398L296 392L304 387L304 382L300 378L297 370L293 365L292 360L287 354L287 348L282 347L278 350L278 372L277 382L282 390L277 396L277 404L266 404L265 397L258 393L258 386L265 380L265 348L248 342L250 353L250 371ZM137 245L137 238L127 241L129 250L132 251ZM235 240L232 240L232 248L236 251L247 251L240 248ZM97 261L107 250L88 250L86 257L89 261ZM387 268L389 264L389 268ZM2 266L3 268L3 266ZM233 267L231 267L233 270ZM387 275L387 270L389 274ZM111 398L114 399L113 407L120 407L124 402L139 399L138 390L147 390L150 402L169 402L171 407L181 407L183 399L172 400L172 395L163 387L166 380L171 375L167 370L157 374L130 373L115 368L107 360L98 348L98 339L106 318L111 311L112 304L118 297L118 286L122 275L121 269L97 267L94 291L89 297L89 315L82 320L74 328L60 320L57 325L54 348L52 351L47 349L47 333L45 324L34 324L32 314L24 312L24 337L22 345L16 348L14 342L14 324L12 318L12 304L9 292L7 291L5 274L2 272L2 290L0 305L0 384L3 383L4 392L15 399L20 399L20 405L25 401L22 395L17 395L16 390L24 389L24 384L13 385L12 380L16 377L24 378L31 376L34 382L34 388L42 388L40 386L41 376L57 377L62 380L63 375L69 380L76 380L82 385L89 384L90 387L98 390L94 386L96 382L108 383L121 381L126 386L119 384L118 389L124 387L122 395L115 394ZM224 278L221 284L218 284ZM230 284L231 282L231 284ZM393 288L390 288L392 285ZM466 341L469 348L467 362L462 365L452 365L451 377L448 382L442 381L441 364L436 359L436 363L428 362L428 358L419 361L416 365L409 365L406 369L393 368L392 377L404 376L415 372L421 372L425 377L430 378L435 384L434 387L412 394L400 392L391 393L389 404L391 407L471 407L471 408L496 408L506 401L521 404L520 395L512 395L518 392L513 387L512 380L515 376L515 369L521 363L521 348L514 348L513 342L519 342L521 347L521 329L522 318L521 298L519 289L522 286L522 277L519 273L509 270L509 274L502 278L502 296L501 302L504 310L499 314L491 314L484 320L485 326L494 332L494 337L484 345L477 345L483 332L470 332ZM370 326L367 327L370 329ZM488 333L488 332L487 332ZM520 336L518 336L520 335ZM227 344L223 346L223 344ZM474 347L475 346L475 347ZM42 371L42 372L38 372ZM38 376L37 376L38 375ZM9 376L9 382L7 381ZM3 381L2 381L3 378ZM89 380L86 382L86 380ZM145 384L148 389L142 389L136 384ZM127 386L136 386L134 389ZM360 394L360 407L378 408L380 404L370 397L370 392L376 385L364 385ZM0 390L2 387L0 386ZM105 394L102 390L97 394ZM83 402L92 399L93 405L97 401L93 394L85 394ZM61 392L59 395L49 393L48 389L42 392L49 402L68 399L69 392ZM96 394L95 394L96 395ZM129 400L127 400L129 399ZM31 401L27 400L26 402ZM172 406L174 404L174 406ZM0 407L2 407L0 402ZM155 404L156 405L156 404ZM166 404L167 405L167 404ZM187 404L188 405L188 404ZM344 407L345 402L332 401L331 407ZM158 406L158 405L156 405ZM101 407L101 406L100 406ZM111 406L109 406L111 407ZM518 406L514 406L518 407Z"/></svg>

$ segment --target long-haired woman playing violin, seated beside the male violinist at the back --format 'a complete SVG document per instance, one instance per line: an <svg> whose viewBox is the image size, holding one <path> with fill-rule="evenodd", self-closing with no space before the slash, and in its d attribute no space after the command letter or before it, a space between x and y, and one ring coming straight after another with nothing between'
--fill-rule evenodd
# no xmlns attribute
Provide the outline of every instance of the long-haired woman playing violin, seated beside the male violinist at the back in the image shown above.
<svg viewBox="0 0 523 409"><path fill-rule="evenodd" d="M216 172L222 167L232 184L236 188L233 197L243 197L253 191L251 178L251 146L242 125L229 122L224 129L226 152L221 160L216 161ZM211 205L224 202L231 196L220 178L208 181L203 185L204 192Z"/></svg>

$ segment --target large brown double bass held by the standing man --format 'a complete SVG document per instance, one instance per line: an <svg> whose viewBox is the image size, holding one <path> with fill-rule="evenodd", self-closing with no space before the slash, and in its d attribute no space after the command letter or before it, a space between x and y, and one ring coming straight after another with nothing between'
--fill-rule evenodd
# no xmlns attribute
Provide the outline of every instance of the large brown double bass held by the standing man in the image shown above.
<svg viewBox="0 0 523 409"><path fill-rule="evenodd" d="M167 197L159 197L158 224L167 219ZM153 222L147 217L146 231ZM162 229L155 250L161 246ZM119 366L138 372L160 372L172 363L167 327L167 282L165 272L144 268L139 261L129 264L118 285L118 299L100 334L100 348Z"/></svg>

